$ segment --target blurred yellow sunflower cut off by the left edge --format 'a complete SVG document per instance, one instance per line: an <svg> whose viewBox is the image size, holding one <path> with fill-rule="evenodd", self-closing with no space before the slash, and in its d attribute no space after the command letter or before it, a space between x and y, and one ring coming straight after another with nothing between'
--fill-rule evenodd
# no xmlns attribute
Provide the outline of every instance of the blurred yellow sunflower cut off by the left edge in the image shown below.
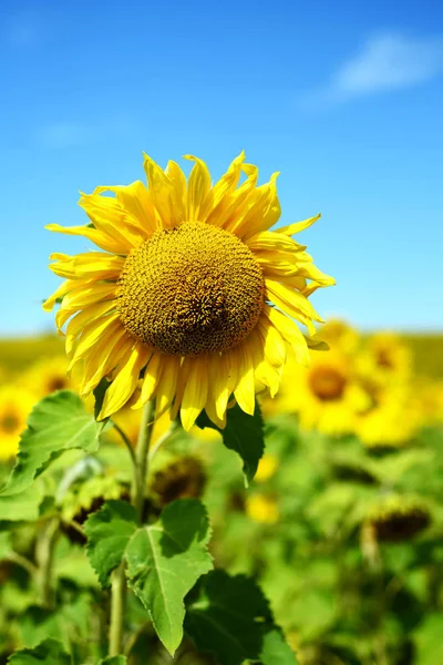
<svg viewBox="0 0 443 665"><path fill-rule="evenodd" d="M18 452L20 434L27 429L33 402L33 396L27 390L16 386L0 388L0 460Z"/></svg>

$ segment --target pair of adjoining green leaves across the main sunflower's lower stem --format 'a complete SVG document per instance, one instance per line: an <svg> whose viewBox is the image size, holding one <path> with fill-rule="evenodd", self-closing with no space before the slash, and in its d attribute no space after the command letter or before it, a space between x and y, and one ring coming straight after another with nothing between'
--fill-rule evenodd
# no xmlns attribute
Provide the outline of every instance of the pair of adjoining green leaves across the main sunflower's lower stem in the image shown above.
<svg viewBox="0 0 443 665"><path fill-rule="evenodd" d="M195 499L174 501L157 522L140 526L124 501L107 501L85 523L87 555L103 586L123 561L131 589L141 600L165 647L182 642L184 597L213 567L207 544L209 521Z"/></svg>

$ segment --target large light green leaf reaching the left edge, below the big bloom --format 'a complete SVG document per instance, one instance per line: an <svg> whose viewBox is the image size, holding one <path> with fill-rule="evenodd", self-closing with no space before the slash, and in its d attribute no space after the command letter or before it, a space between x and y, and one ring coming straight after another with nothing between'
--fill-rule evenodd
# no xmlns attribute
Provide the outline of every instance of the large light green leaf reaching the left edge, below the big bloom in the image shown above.
<svg viewBox="0 0 443 665"><path fill-rule="evenodd" d="M65 450L80 448L95 452L103 427L104 423L96 422L86 412L80 397L71 390L60 390L40 400L21 436L16 467L0 492L1 512L3 498L30 488L34 479Z"/></svg>

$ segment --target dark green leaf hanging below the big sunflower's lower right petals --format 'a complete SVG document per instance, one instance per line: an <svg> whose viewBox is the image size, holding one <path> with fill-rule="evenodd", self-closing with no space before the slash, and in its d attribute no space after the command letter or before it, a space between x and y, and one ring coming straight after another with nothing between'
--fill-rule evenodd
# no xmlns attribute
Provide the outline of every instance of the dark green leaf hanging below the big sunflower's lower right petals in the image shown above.
<svg viewBox="0 0 443 665"><path fill-rule="evenodd" d="M258 402L254 416L245 413L238 405L228 409L224 430L214 424L205 411L197 418L197 424L200 429L209 427L220 432L226 448L238 452L243 459L245 482L248 485L256 474L258 462L265 451L264 420Z"/></svg>

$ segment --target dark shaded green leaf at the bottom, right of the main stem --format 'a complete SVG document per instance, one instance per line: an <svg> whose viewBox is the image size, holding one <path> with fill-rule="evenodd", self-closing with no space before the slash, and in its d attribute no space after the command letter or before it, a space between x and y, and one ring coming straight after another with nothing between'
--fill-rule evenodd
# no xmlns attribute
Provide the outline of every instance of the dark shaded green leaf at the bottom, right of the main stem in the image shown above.
<svg viewBox="0 0 443 665"><path fill-rule="evenodd" d="M244 661L296 665L253 580L217 570L202 580L187 601L186 634L198 651L213 653L220 665L241 665Z"/></svg>

